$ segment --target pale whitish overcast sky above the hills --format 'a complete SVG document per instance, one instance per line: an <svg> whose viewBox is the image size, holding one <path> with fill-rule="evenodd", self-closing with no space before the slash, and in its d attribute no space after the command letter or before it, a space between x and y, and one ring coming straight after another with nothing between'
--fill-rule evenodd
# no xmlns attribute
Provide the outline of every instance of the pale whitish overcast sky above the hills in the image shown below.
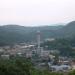
<svg viewBox="0 0 75 75"><path fill-rule="evenodd" d="M0 0L0 25L42 26L75 20L75 0Z"/></svg>

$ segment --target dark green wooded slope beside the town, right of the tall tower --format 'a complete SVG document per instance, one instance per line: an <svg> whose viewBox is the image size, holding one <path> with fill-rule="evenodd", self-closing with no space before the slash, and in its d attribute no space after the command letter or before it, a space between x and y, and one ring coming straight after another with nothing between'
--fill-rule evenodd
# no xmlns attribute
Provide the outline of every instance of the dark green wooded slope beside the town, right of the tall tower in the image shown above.
<svg viewBox="0 0 75 75"><path fill-rule="evenodd" d="M75 57L75 39L55 39L54 41L45 41L41 44L47 50L59 50L59 55Z"/></svg>

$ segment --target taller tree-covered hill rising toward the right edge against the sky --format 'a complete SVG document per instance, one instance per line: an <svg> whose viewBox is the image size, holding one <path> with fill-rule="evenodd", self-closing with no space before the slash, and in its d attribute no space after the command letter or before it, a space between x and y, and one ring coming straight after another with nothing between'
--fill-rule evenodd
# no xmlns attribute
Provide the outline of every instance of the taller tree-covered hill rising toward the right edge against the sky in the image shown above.
<svg viewBox="0 0 75 75"><path fill-rule="evenodd" d="M75 21L68 23L63 28L59 29L57 32L58 36L61 37L73 37L75 36Z"/></svg>

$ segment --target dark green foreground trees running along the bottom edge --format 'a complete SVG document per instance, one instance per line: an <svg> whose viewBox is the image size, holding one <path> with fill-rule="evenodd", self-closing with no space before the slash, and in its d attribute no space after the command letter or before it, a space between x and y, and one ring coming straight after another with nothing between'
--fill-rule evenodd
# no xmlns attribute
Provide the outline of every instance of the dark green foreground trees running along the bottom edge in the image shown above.
<svg viewBox="0 0 75 75"><path fill-rule="evenodd" d="M0 75L64 75L48 70L37 70L28 59L0 60ZM68 75L75 75L75 71Z"/></svg>

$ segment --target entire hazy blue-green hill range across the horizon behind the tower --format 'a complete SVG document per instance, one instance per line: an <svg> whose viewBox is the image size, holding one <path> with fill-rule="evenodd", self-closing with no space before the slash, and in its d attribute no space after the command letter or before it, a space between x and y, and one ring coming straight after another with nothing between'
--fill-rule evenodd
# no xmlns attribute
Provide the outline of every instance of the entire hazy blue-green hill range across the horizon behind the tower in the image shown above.
<svg viewBox="0 0 75 75"><path fill-rule="evenodd" d="M19 25L0 26L0 45L36 41L37 31L41 39L75 36L75 21L65 26L24 27Z"/></svg>

